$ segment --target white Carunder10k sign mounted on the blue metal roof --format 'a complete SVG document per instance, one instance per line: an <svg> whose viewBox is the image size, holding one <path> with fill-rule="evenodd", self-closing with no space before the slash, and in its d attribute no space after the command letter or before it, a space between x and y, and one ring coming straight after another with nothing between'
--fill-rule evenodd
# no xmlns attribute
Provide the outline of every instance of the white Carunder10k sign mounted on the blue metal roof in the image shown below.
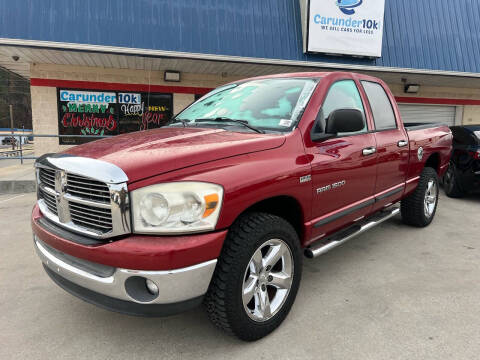
<svg viewBox="0 0 480 360"><path fill-rule="evenodd" d="M309 52L382 56L385 0L310 0Z"/></svg>

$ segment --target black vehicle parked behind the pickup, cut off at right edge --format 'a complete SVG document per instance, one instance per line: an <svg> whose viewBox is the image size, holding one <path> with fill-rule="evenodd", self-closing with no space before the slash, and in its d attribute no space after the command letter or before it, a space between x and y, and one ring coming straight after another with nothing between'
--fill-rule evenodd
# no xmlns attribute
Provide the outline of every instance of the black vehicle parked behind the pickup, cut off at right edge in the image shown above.
<svg viewBox="0 0 480 360"><path fill-rule="evenodd" d="M443 184L450 197L480 190L480 125L452 126L453 150Z"/></svg>

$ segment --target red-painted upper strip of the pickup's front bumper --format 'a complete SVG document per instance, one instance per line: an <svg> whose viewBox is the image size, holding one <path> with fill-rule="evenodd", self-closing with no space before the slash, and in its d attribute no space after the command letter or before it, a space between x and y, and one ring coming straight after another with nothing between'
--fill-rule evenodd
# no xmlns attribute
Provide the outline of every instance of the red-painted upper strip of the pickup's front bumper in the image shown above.
<svg viewBox="0 0 480 360"><path fill-rule="evenodd" d="M38 205L32 211L33 233L65 254L114 268L172 270L220 256L227 231L185 236L129 235L105 242L79 236L47 221Z"/></svg>

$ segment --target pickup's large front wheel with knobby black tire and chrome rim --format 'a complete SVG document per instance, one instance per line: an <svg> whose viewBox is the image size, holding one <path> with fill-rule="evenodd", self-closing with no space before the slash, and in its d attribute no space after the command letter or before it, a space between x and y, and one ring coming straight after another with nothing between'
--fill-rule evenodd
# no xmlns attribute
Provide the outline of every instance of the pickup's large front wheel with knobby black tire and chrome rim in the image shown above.
<svg viewBox="0 0 480 360"><path fill-rule="evenodd" d="M267 255L280 253L283 256L278 261L266 261L270 259ZM270 334L286 318L295 301L302 260L300 242L290 223L266 213L242 215L227 235L205 296L204 305L210 320L244 341L255 341ZM273 285L280 283L279 279L288 290ZM260 304L258 301L266 304L267 298L270 313L266 305L258 309L256 306Z"/></svg>

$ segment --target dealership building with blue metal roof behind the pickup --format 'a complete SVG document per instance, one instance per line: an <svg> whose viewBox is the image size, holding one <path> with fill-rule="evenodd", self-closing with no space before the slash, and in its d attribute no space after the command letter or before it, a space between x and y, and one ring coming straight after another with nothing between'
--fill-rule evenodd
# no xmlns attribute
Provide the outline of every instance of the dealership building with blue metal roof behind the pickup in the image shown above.
<svg viewBox="0 0 480 360"><path fill-rule="evenodd" d="M298 71L377 76L405 122L480 124L479 18L470 0L0 0L0 66L30 80L35 134L159 127L219 85Z"/></svg>

